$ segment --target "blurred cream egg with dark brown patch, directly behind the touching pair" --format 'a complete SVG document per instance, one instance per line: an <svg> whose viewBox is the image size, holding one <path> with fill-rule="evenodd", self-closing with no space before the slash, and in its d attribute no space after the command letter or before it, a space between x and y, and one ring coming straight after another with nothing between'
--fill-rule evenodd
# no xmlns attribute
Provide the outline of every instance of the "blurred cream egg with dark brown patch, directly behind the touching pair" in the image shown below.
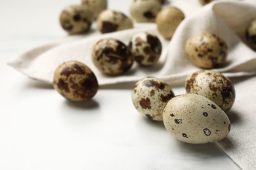
<svg viewBox="0 0 256 170"><path fill-rule="evenodd" d="M110 33L123 29L133 28L133 22L122 12L116 10L103 10L97 18L98 31Z"/></svg>

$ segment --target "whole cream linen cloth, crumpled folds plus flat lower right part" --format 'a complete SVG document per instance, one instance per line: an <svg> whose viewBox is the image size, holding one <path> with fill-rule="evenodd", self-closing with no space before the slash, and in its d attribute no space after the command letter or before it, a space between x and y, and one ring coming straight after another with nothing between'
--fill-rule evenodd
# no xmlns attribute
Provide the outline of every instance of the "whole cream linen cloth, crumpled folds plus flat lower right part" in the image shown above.
<svg viewBox="0 0 256 170"><path fill-rule="evenodd" d="M189 3L186 7L189 9ZM156 76L163 78L171 85L182 84L184 86L184 78L199 69L184 53L186 40L200 33L215 33L228 44L226 65L215 71L220 71L229 77L256 75L256 53L249 48L245 40L247 25L256 19L256 0L214 1L196 11L184 12L186 18L179 25L171 41L161 37L156 24L136 24L134 29L104 35L92 33L87 37L70 37L40 46L22 54L9 65L30 78L49 84L52 83L54 70L60 63L75 59L87 64L94 71L100 85L134 82L144 76ZM131 36L140 31L147 31L160 37L163 44L160 62L153 67L139 67L135 63L129 72L121 76L102 75L91 59L91 49L96 41L112 37L127 44ZM248 87L253 88L251 82L247 81L247 84ZM236 91L243 89L238 84ZM244 92L251 93L247 87ZM244 103L243 107L235 105L230 115L243 115L240 117L244 122L234 124L228 137L218 144L242 169L256 169L256 109L247 110L249 101L242 96L238 95L236 102ZM252 95L250 99L250 104L255 105L252 102L255 101L256 96ZM248 107L245 107L246 104Z"/></svg>

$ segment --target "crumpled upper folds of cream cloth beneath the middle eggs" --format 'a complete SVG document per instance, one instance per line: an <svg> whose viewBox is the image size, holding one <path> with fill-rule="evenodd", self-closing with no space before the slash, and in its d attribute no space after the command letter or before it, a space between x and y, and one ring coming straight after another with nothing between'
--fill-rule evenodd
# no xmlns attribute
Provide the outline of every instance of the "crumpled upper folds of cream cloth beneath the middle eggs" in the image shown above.
<svg viewBox="0 0 256 170"><path fill-rule="evenodd" d="M244 43L244 34L249 22L256 18L255 8L255 0L216 1L196 12L186 12L186 18L179 25L171 41L161 37L156 24L135 24L135 29L105 35L93 33L87 37L47 44L22 54L9 65L30 78L50 84L56 67L70 59L87 64L94 71L100 85L136 81L144 76L156 76L165 79L169 84L175 84L199 69L184 53L186 40L200 33L215 33L227 42L229 48L227 64L216 71L221 71L227 76L254 75L256 54ZM130 37L140 31L147 31L160 37L163 44L160 62L153 67L139 67L135 63L129 72L121 76L102 75L91 59L91 50L96 41L112 37L127 44Z"/></svg>

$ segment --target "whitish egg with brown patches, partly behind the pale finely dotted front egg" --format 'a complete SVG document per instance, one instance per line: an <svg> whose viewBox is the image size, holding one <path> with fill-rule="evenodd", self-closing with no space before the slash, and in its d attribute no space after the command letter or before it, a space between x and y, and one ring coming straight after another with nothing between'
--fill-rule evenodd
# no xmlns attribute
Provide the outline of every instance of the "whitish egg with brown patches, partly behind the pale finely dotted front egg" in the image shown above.
<svg viewBox="0 0 256 170"><path fill-rule="evenodd" d="M163 120L163 108L175 95L171 87L155 77L139 80L132 91L135 108L150 120Z"/></svg>

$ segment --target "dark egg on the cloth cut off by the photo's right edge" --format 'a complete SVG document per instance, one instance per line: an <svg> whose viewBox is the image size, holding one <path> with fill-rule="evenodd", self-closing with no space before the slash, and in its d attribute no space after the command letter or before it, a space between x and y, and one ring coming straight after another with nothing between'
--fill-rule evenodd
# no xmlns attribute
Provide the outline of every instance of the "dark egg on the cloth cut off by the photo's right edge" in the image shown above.
<svg viewBox="0 0 256 170"><path fill-rule="evenodd" d="M256 19L253 20L245 31L245 37L251 48L256 51Z"/></svg>

